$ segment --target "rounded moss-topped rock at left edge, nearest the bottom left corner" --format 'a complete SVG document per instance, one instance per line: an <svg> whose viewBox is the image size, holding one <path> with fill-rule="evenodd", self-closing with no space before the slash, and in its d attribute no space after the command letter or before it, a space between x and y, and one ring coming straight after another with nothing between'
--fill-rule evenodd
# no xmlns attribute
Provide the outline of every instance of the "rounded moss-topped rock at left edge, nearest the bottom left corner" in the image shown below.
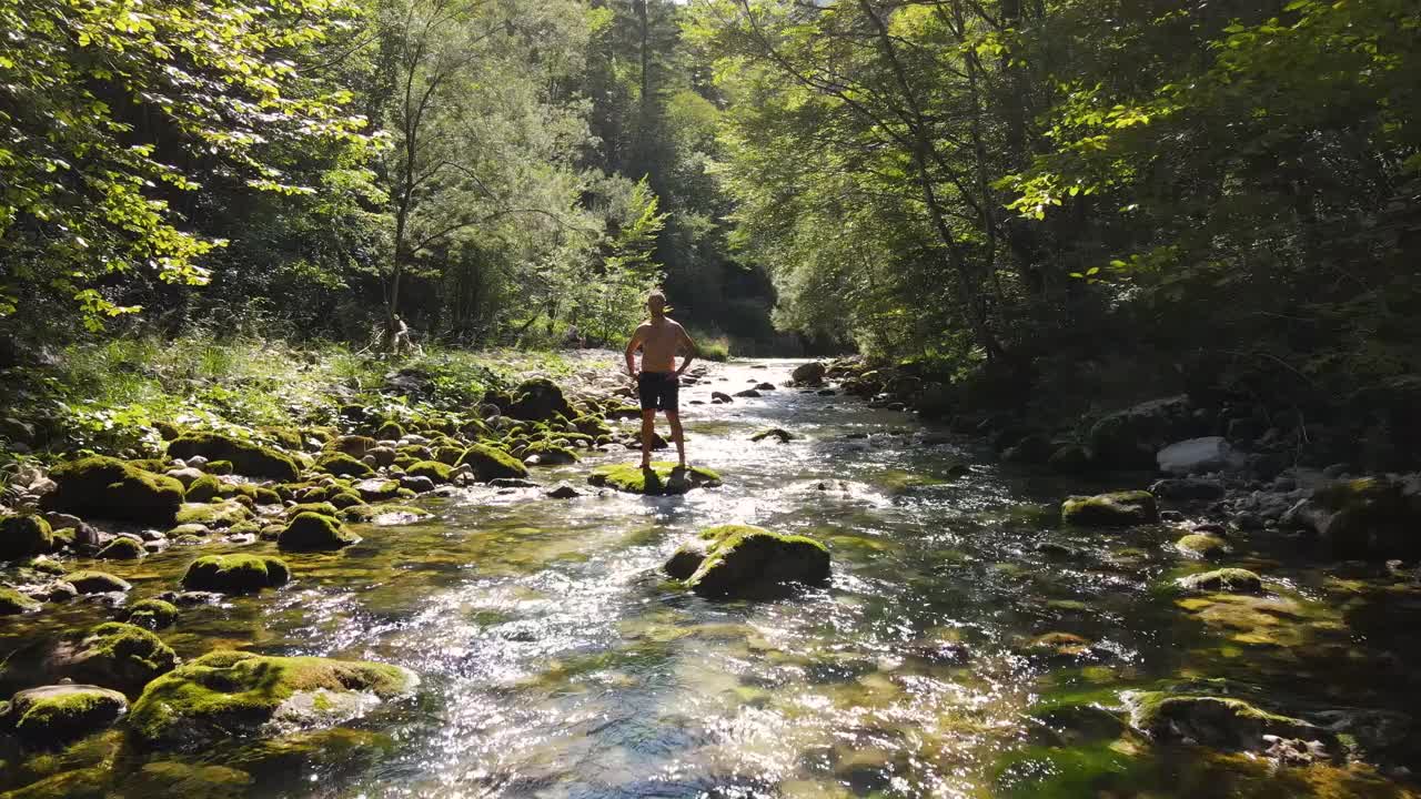
<svg viewBox="0 0 1421 799"><path fill-rule="evenodd" d="M112 726L128 712L128 698L98 685L43 685L0 705L0 726L28 748L53 748Z"/></svg>

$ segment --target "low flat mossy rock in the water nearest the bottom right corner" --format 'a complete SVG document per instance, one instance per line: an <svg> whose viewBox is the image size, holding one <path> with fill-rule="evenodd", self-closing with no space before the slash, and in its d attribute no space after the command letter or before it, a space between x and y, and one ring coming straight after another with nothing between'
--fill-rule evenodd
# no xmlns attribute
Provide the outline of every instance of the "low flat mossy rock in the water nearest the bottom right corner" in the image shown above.
<svg viewBox="0 0 1421 799"><path fill-rule="evenodd" d="M1125 695L1130 724L1157 741L1194 741L1233 751L1266 748L1265 735L1317 739L1324 731L1306 721L1272 714L1232 697L1191 697L1161 691Z"/></svg>

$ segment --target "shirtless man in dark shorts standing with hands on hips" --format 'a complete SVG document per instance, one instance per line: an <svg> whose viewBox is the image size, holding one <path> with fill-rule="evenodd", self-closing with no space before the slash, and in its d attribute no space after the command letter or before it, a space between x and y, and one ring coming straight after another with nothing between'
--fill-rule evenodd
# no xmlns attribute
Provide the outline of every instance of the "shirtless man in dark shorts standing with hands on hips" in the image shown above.
<svg viewBox="0 0 1421 799"><path fill-rule="evenodd" d="M686 466L686 439L681 432L681 411L676 407L681 375L696 355L696 343L686 328L666 316L666 296L652 291L647 297L651 320L641 323L627 344L627 374L637 381L641 395L641 468L651 466L651 441L657 435L657 411L666 412L671 439L676 442L681 468ZM641 348L641 371L637 371L637 348ZM688 355L676 368L676 353L685 347Z"/></svg>

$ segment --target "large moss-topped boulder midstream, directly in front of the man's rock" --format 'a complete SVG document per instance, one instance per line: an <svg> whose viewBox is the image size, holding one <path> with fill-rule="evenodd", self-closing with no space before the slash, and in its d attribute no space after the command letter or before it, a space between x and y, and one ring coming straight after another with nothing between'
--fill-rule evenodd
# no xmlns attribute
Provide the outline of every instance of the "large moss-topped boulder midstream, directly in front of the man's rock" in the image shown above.
<svg viewBox="0 0 1421 799"><path fill-rule="evenodd" d="M773 597L828 581L828 549L814 539L749 525L710 527L699 537L706 553L685 584L703 597Z"/></svg>

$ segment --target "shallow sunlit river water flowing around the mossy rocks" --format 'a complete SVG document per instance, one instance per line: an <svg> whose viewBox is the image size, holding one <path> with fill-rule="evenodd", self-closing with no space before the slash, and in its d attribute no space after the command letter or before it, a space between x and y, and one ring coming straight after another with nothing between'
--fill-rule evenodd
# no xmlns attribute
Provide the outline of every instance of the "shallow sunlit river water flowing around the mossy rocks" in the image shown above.
<svg viewBox="0 0 1421 799"><path fill-rule="evenodd" d="M1232 563L1263 572L1269 597L1191 606L1167 587L1204 569L1169 546L1179 530L1054 522L1071 490L1138 482L1010 473L844 397L688 404L783 382L791 365L718 367L682 390L691 459L719 471L720 489L472 489L428 502L433 520L288 556L286 589L186 608L162 633L183 657L240 647L396 663L422 677L415 698L335 731L198 755L138 752L117 734L24 768L7 752L0 790L98 763L99 795L134 798L1411 795L1364 768L1155 745L1111 709L1123 690L1226 678L1262 698L1414 712L1401 664L1421 648L1417 593L1250 549ZM800 438L750 444L766 427ZM631 458L539 478L584 485L591 466ZM728 522L826 542L831 584L716 603L664 581L678 543ZM193 554L104 567L136 599L172 587ZM105 616L71 603L0 621L0 655ZM1091 657L1022 654L1053 631L1094 641Z"/></svg>

